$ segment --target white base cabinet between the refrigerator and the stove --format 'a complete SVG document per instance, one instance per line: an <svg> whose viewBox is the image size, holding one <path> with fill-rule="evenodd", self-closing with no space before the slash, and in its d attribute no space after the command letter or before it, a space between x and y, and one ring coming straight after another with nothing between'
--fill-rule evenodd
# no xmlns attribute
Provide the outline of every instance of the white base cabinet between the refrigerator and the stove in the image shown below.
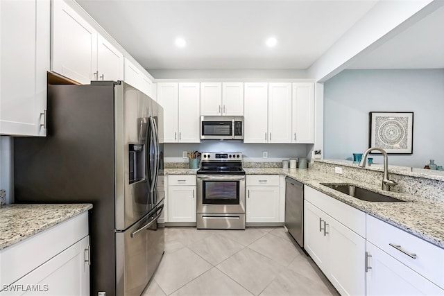
<svg viewBox="0 0 444 296"><path fill-rule="evenodd" d="M196 223L196 175L168 176L168 222Z"/></svg>

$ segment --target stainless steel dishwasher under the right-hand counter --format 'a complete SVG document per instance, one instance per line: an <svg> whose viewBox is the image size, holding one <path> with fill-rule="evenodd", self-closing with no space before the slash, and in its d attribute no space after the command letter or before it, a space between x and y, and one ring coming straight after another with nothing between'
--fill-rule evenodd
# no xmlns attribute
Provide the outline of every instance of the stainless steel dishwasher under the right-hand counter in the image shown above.
<svg viewBox="0 0 444 296"><path fill-rule="evenodd" d="M304 247L304 184L285 178L285 227L300 247Z"/></svg>

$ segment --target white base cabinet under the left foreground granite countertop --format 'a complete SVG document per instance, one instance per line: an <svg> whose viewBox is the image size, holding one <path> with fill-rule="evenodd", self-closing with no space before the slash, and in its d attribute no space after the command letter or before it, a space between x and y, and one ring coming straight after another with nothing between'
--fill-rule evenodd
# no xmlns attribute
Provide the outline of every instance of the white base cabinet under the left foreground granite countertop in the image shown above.
<svg viewBox="0 0 444 296"><path fill-rule="evenodd" d="M0 294L35 292L12 291L23 285L38 288L42 295L87 296L89 251L87 212L7 247L0 251Z"/></svg>

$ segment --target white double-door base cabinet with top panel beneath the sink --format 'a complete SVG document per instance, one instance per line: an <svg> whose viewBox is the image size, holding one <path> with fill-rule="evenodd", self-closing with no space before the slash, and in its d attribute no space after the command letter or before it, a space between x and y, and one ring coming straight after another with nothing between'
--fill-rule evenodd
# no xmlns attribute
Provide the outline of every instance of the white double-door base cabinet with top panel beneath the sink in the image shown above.
<svg viewBox="0 0 444 296"><path fill-rule="evenodd" d="M305 250L341 295L364 295L366 240L352 231L352 226L348 227L347 219L342 216L354 217L352 223L361 225L365 225L366 216L337 200L326 204L324 201L328 199L333 200L305 186ZM341 216L335 216L335 213L341 213Z"/></svg>

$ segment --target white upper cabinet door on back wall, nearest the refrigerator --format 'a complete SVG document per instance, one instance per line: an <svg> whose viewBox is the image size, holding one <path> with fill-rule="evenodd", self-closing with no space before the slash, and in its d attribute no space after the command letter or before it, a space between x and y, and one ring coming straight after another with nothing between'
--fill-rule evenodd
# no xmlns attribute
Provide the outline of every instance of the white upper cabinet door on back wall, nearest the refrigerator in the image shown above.
<svg viewBox="0 0 444 296"><path fill-rule="evenodd" d="M157 83L157 101L164 107L164 143L178 142L178 96L178 83Z"/></svg>

